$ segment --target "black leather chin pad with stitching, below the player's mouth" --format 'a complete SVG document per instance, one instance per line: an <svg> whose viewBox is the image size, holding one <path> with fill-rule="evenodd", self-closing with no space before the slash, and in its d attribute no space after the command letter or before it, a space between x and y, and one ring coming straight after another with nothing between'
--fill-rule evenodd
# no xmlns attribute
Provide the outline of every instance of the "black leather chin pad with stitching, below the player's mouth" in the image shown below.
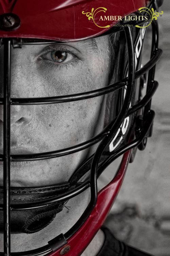
<svg viewBox="0 0 170 256"><path fill-rule="evenodd" d="M11 187L11 204L30 203L53 198L69 190L69 183L46 187ZM3 203L3 187L0 187L0 203ZM63 203L47 207L11 211L12 233L34 233L48 226L61 212ZM0 232L3 232L3 211L0 211Z"/></svg>

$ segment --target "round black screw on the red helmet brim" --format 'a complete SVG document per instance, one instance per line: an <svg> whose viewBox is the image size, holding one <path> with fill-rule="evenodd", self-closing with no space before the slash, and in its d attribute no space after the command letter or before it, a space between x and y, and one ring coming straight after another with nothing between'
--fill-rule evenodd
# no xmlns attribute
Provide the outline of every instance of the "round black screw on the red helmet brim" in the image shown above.
<svg viewBox="0 0 170 256"><path fill-rule="evenodd" d="M20 26L20 19L14 13L4 13L0 15L0 29L12 31Z"/></svg>

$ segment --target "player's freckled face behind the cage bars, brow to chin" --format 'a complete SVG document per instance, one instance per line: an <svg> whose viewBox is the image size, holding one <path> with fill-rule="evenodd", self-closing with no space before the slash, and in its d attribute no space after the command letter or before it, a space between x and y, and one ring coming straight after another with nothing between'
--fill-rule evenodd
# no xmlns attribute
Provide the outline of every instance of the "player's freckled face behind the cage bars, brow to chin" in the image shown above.
<svg viewBox="0 0 170 256"><path fill-rule="evenodd" d="M108 38L96 41L12 48L11 97L52 97L106 86L110 62ZM103 128L104 117L99 118L101 111L104 112L103 99L11 106L11 154L54 151L90 139ZM2 153L2 132L0 139ZM11 185L39 186L67 181L86 154L84 151L48 160L12 162ZM2 185L2 163L0 168Z"/></svg>

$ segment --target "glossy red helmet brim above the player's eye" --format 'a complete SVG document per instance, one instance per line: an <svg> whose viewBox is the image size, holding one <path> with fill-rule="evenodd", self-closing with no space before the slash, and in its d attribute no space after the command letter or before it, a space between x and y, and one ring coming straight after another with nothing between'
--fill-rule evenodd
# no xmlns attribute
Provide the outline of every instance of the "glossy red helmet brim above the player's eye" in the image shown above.
<svg viewBox="0 0 170 256"><path fill-rule="evenodd" d="M101 15L125 15L146 6L147 0L0 0L0 14L14 13L19 16L21 26L14 31L0 30L0 37L40 38L75 41L95 37L111 28L117 21L101 21ZM82 11L91 12L99 7L95 20L98 25L111 25L100 28L92 19L88 20Z"/></svg>

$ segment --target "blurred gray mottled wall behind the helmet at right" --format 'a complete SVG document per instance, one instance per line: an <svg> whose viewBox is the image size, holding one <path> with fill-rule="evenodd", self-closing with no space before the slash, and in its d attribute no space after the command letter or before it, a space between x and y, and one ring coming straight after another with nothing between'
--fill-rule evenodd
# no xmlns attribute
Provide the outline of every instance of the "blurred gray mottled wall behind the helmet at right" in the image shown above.
<svg viewBox="0 0 170 256"><path fill-rule="evenodd" d="M156 112L153 136L145 151L129 165L111 214L106 219L115 236L156 256L170 256L170 1L158 17L162 58L156 69L159 82L153 97ZM112 167L109 168L110 173ZM111 176L111 175L108 175Z"/></svg>

